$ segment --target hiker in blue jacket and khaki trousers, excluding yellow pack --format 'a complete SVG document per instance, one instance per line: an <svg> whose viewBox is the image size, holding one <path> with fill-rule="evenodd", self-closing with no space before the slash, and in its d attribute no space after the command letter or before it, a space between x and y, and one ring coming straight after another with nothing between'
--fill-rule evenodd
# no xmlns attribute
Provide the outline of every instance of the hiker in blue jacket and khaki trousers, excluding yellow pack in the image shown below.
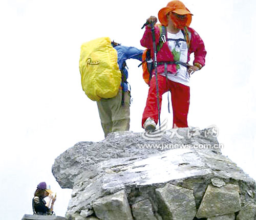
<svg viewBox="0 0 256 220"><path fill-rule="evenodd" d="M119 43L111 43L117 51L117 63L122 74L122 80L118 94L109 99L101 98L97 101L99 117L104 135L114 131L125 131L130 128L130 100L131 94L127 83L128 71L127 59L142 60L143 50L135 47L125 47Z"/></svg>

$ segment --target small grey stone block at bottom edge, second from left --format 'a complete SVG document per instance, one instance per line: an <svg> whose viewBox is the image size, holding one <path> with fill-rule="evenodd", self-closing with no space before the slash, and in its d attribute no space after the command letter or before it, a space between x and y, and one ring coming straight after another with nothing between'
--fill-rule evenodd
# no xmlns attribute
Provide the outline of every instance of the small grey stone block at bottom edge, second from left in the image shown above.
<svg viewBox="0 0 256 220"><path fill-rule="evenodd" d="M153 206L149 199L145 199L133 204L132 213L135 220L157 220L153 211Z"/></svg>

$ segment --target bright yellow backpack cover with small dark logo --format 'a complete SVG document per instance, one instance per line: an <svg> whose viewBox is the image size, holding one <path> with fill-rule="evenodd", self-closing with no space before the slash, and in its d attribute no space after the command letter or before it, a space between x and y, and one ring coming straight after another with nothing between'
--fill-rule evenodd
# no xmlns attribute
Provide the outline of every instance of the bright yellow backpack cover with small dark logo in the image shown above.
<svg viewBox="0 0 256 220"><path fill-rule="evenodd" d="M81 46L79 70L82 89L93 101L112 98L118 93L121 72L117 63L117 51L109 37L100 37Z"/></svg>

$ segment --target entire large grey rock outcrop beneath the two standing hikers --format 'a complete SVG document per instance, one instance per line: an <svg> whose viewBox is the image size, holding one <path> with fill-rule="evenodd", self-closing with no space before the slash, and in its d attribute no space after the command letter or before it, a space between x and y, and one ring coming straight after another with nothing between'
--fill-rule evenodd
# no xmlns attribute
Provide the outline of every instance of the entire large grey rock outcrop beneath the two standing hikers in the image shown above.
<svg viewBox="0 0 256 220"><path fill-rule="evenodd" d="M52 167L59 185L73 189L66 218L234 220L240 212L244 219L243 210L253 216L255 182L218 146L214 133L190 128L155 139L124 131L79 142Z"/></svg>

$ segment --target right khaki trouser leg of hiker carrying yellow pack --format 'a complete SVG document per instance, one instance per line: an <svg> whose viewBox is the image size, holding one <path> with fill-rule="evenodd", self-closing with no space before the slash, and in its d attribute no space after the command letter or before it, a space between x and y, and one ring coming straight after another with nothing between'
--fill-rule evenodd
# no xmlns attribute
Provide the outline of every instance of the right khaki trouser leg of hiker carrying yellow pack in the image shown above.
<svg viewBox="0 0 256 220"><path fill-rule="evenodd" d="M112 103L112 132L130 129L130 92L124 92L124 103L122 105L122 91L120 90Z"/></svg>

